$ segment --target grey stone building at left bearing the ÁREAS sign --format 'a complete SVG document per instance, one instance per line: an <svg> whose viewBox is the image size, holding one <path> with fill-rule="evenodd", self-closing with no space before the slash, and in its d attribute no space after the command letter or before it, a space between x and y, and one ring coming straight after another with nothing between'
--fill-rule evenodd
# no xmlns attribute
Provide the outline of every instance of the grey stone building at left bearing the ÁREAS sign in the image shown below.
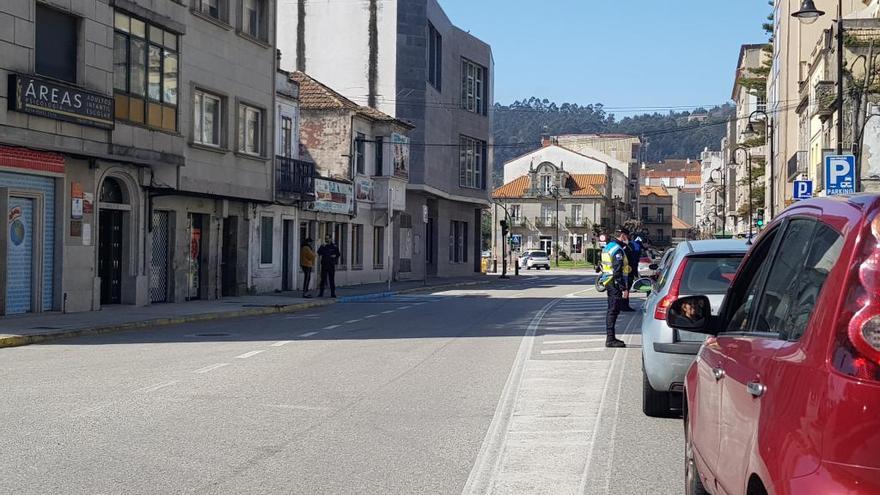
<svg viewBox="0 0 880 495"><path fill-rule="evenodd" d="M0 314L246 290L249 205L272 200L272 0L0 17Z"/></svg>

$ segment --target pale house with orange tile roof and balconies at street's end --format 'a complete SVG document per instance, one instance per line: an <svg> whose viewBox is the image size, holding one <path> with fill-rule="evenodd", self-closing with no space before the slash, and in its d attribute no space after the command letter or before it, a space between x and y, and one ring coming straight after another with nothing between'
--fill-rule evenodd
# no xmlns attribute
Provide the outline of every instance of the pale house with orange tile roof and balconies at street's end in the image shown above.
<svg viewBox="0 0 880 495"><path fill-rule="evenodd" d="M509 162L512 168L516 167L515 162ZM602 166L597 170L602 168L607 169ZM504 249L500 221L507 219L514 252L543 249L553 253L559 249L573 259L584 259L586 248L596 242L599 226L609 224L613 214L608 202L609 174L607 170L576 173L561 164L541 161L496 189L492 194L496 203L492 210L495 258L500 259Z"/></svg>

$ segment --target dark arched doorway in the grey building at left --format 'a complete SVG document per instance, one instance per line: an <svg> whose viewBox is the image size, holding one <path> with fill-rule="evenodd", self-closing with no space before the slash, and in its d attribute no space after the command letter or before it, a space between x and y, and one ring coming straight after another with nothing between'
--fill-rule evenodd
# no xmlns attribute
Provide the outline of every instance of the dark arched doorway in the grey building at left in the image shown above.
<svg viewBox="0 0 880 495"><path fill-rule="evenodd" d="M101 278L101 304L122 302L122 272L125 216L131 211L122 183L113 177L104 179L98 194L98 276Z"/></svg>

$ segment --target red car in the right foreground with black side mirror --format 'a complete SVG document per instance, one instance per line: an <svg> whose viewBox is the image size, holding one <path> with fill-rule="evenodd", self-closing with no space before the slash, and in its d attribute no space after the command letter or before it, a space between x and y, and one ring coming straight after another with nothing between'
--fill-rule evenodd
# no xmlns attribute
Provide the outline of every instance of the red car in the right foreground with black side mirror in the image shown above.
<svg viewBox="0 0 880 495"><path fill-rule="evenodd" d="M797 203L760 235L685 379L686 493L880 493L880 196Z"/></svg>

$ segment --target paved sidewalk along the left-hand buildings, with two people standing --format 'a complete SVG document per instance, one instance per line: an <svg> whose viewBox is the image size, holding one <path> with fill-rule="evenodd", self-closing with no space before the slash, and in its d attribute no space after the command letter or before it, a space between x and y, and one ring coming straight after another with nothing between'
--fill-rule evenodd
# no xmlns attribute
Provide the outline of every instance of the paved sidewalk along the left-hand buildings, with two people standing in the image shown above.
<svg viewBox="0 0 880 495"><path fill-rule="evenodd" d="M51 339L121 332L137 328L177 325L196 321L293 313L351 301L379 299L396 294L477 285L494 280L489 275L340 287L337 299L303 299L300 292L227 297L215 301L189 301L150 306L110 306L83 313L35 313L0 318L0 347L34 344Z"/></svg>

